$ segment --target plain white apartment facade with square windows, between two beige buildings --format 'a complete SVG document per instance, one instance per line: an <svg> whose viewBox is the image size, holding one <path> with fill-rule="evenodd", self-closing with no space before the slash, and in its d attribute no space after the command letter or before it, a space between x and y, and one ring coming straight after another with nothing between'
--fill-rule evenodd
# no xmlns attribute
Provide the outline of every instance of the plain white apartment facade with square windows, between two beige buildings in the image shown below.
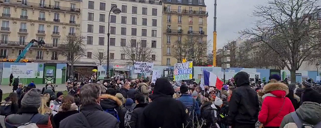
<svg viewBox="0 0 321 128"><path fill-rule="evenodd" d="M110 13L112 6L121 9ZM87 56L81 61L95 62L94 54L106 54L108 20L110 21L109 59L111 64L123 65L129 58L123 47L150 47L152 61L161 64L162 2L158 0L83 0L82 34L87 37ZM141 45L137 45L140 41ZM129 42L129 43L128 43Z"/></svg>

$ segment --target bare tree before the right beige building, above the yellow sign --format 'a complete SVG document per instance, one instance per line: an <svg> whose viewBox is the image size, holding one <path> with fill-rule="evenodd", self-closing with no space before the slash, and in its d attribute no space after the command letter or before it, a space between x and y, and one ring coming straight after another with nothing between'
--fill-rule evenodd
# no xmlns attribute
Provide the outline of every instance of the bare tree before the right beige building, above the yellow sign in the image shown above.
<svg viewBox="0 0 321 128"><path fill-rule="evenodd" d="M202 64L207 59L207 47L210 41L203 39L202 35L188 34L183 41L176 41L173 45L173 55L179 61L183 58Z"/></svg>

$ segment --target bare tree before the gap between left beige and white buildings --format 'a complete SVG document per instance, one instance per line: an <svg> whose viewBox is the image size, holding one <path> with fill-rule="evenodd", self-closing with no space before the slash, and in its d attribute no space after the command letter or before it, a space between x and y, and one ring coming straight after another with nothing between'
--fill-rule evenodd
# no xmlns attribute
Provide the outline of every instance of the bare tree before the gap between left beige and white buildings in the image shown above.
<svg viewBox="0 0 321 128"><path fill-rule="evenodd" d="M86 56L85 41L86 37L81 34L67 35L60 45L60 54L67 57L70 63L70 73L74 72L74 63L80 57Z"/></svg>

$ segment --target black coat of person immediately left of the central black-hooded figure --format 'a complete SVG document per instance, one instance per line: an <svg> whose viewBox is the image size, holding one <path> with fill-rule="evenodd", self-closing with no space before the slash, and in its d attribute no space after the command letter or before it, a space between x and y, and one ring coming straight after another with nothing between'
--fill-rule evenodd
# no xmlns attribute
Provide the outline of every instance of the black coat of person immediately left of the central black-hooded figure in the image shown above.
<svg viewBox="0 0 321 128"><path fill-rule="evenodd" d="M145 106L147 106L148 103L138 103L134 110L131 113L131 118L129 121L129 126L131 128L140 128L141 124L139 122L139 119L141 118L142 111L144 110Z"/></svg>

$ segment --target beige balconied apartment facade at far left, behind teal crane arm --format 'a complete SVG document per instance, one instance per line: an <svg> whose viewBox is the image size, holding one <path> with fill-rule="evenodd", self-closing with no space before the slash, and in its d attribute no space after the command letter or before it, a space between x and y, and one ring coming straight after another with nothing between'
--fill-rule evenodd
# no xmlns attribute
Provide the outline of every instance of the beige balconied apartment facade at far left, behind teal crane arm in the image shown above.
<svg viewBox="0 0 321 128"><path fill-rule="evenodd" d="M81 0L0 0L0 58L16 59L32 39L44 47L31 46L25 59L66 60L59 45L68 34L80 33Z"/></svg>

